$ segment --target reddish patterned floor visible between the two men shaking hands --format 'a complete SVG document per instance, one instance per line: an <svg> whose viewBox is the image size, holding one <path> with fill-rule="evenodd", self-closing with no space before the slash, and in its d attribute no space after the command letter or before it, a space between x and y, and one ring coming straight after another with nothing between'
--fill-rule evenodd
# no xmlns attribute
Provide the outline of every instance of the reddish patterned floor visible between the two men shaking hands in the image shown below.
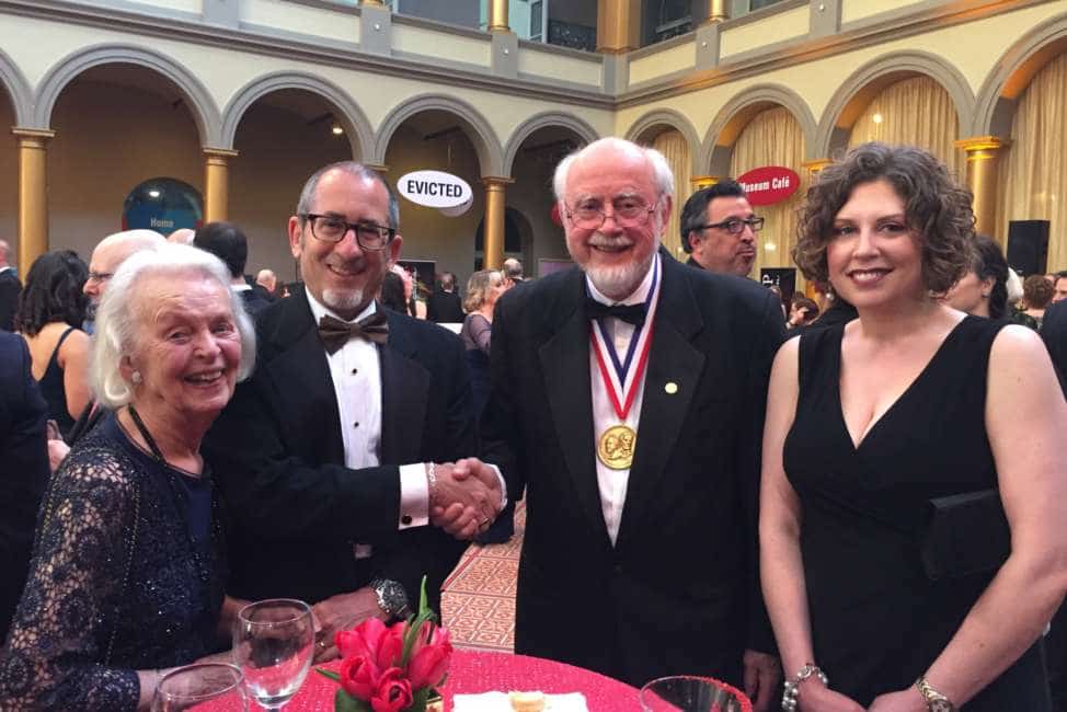
<svg viewBox="0 0 1067 712"><path fill-rule="evenodd" d="M457 647L507 651L515 646L515 577L526 507L515 508L515 536L504 544L472 544L445 582L441 619Z"/></svg>

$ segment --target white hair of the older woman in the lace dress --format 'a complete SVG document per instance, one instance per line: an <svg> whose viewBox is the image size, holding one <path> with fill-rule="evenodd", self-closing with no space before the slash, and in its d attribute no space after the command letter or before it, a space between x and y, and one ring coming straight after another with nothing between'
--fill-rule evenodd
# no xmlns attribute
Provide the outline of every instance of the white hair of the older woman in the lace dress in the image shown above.
<svg viewBox="0 0 1067 712"><path fill-rule="evenodd" d="M102 405L115 410L129 403L133 397L133 389L123 378L119 367L123 357L137 348L138 314L144 308L136 294L137 285L147 275L162 274L177 278L190 273L214 279L226 290L241 336L238 380L244 380L252 372L255 365L255 328L240 295L230 289L230 271L221 260L208 252L162 242L153 249L136 252L123 262L107 283L107 290L101 299L89 378L93 395Z"/></svg>

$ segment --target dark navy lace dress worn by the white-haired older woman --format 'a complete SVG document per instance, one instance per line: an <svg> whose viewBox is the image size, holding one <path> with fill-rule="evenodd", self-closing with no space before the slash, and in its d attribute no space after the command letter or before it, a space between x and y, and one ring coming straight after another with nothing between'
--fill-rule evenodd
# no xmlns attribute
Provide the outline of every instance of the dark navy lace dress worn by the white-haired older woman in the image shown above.
<svg viewBox="0 0 1067 712"><path fill-rule="evenodd" d="M225 560L208 473L135 446L114 414L53 475L0 659L0 709L135 710L138 669L218 648Z"/></svg>

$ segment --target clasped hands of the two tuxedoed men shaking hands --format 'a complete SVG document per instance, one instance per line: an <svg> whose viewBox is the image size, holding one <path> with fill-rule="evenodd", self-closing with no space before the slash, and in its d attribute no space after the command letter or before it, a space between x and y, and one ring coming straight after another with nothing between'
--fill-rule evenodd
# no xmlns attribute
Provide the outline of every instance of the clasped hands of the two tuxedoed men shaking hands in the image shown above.
<svg viewBox="0 0 1067 712"><path fill-rule="evenodd" d="M438 466L431 521L457 539L471 539L489 528L503 504L500 479L478 458Z"/></svg>

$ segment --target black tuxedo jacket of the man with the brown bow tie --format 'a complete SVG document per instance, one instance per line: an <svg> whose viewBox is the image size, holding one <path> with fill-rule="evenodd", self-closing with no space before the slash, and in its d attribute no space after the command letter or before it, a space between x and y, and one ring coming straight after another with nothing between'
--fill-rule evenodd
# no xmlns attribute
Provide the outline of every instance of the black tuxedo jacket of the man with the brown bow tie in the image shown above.
<svg viewBox="0 0 1067 712"><path fill-rule="evenodd" d="M228 593L317 602L401 582L412 606L429 576L432 605L466 544L435 527L398 531L400 464L474 452L470 383L459 338L386 311L380 467L349 470L336 394L306 292L260 313L255 372L204 441L230 519ZM375 555L356 561L353 543Z"/></svg>

